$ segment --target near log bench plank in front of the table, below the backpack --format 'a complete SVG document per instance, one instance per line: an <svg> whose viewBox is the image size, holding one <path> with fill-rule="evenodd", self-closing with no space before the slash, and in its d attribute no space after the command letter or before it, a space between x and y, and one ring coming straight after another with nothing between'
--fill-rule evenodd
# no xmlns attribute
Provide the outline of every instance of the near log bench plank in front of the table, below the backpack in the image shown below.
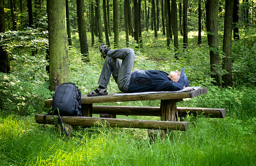
<svg viewBox="0 0 256 166"><path fill-rule="evenodd" d="M35 121L39 124L53 124L54 116L46 115L45 122L43 114L35 115ZM158 121L158 120L136 120L136 119L116 119L103 117L86 117L86 116L62 116L62 121L73 126L101 126L102 124L110 127L125 128L145 128L145 129L171 129L171 130L188 130L188 122L184 121Z"/></svg>

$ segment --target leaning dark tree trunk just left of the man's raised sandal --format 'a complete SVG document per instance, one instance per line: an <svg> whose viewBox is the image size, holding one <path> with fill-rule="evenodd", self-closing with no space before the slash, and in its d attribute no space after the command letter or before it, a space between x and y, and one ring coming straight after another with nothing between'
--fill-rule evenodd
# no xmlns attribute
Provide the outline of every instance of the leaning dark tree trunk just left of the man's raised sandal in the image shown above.
<svg viewBox="0 0 256 166"><path fill-rule="evenodd" d="M89 62L86 23L84 14L84 0L77 0L77 25L80 41L80 50L84 62Z"/></svg>

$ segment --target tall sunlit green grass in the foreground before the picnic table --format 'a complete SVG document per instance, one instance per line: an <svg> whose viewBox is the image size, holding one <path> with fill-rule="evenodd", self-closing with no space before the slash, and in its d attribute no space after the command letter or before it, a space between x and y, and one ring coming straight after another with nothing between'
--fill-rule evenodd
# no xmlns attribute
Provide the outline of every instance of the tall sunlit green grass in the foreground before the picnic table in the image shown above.
<svg viewBox="0 0 256 166"><path fill-rule="evenodd" d="M1 166L254 166L256 118L198 118L152 142L144 129L91 127L73 137L33 117L1 118Z"/></svg>

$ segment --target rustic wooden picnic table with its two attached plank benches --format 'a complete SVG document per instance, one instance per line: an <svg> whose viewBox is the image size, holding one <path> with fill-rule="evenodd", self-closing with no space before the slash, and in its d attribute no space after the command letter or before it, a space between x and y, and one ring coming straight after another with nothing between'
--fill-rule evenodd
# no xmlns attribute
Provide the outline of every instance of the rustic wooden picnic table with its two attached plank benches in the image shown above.
<svg viewBox="0 0 256 166"><path fill-rule="evenodd" d="M163 94L142 94L132 96L115 96L109 94L106 96L88 97L82 95L81 106L83 117L63 116L62 120L66 124L94 126L100 123L107 124L110 127L127 128L147 128L147 129L167 129L187 131L188 122L178 121L178 116L186 115L187 112L204 112L204 115L210 117L225 117L225 109L206 109L206 108L177 108L176 103L185 98L194 98L207 93L207 88L195 88L190 92L163 93ZM127 107L127 106L93 106L95 103L111 102L129 102L161 100L160 107ZM45 100L45 106L51 106L52 99ZM93 113L107 113L107 117L92 117ZM135 120L135 119L117 119L116 115L150 115L160 116L161 120ZM39 124L53 123L53 116L47 115L45 121L43 115L36 115L35 120ZM114 117L114 118L110 118ZM161 131L162 132L162 131Z"/></svg>

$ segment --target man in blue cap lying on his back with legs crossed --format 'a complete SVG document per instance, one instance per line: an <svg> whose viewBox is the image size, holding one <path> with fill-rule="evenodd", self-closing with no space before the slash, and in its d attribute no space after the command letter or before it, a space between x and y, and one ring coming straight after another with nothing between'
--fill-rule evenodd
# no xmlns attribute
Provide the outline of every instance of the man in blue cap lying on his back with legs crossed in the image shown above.
<svg viewBox="0 0 256 166"><path fill-rule="evenodd" d="M132 71L132 49L111 50L105 44L101 44L99 49L105 59L98 81L100 86L87 96L108 95L111 74L123 93L179 91L189 86L184 68L180 72L171 71L170 74L160 70Z"/></svg>

